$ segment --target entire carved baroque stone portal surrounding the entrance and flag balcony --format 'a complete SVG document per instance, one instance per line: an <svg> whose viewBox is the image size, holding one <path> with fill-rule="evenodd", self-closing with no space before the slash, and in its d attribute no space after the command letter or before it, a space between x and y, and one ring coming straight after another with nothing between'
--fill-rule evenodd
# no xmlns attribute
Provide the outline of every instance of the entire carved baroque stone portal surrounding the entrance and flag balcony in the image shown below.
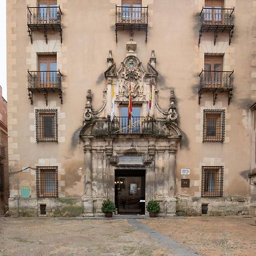
<svg viewBox="0 0 256 256"><path fill-rule="evenodd" d="M136 42L131 39L126 48L126 57L119 69L115 68L112 51L109 51L102 107L93 109L91 90L86 96L84 123L80 131L85 162L84 214L101 214L102 201L115 200L115 170L133 167L146 170L146 202L156 199L160 203L161 214L173 215L176 212L175 157L181 139L174 90L171 89L168 110L163 110L158 103L155 52L151 52L145 71L137 57ZM118 129L118 119L110 119L112 86L115 115L119 115L120 106L129 101L128 82L131 84L133 102L142 109L143 125L138 133L122 133ZM151 108L148 108L149 101ZM129 160L125 163L123 159Z"/></svg>

